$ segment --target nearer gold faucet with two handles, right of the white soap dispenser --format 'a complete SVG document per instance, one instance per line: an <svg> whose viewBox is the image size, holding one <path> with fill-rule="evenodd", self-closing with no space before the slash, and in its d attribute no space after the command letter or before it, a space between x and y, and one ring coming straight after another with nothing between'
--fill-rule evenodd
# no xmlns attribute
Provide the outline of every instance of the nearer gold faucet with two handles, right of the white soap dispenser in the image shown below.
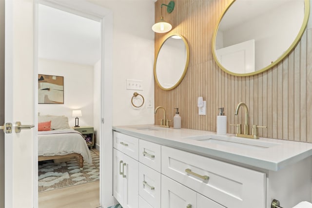
<svg viewBox="0 0 312 208"><path fill-rule="evenodd" d="M249 132L249 124L248 124L248 116L249 116L249 113L248 113L248 108L247 108L247 105L243 102L240 102L237 104L236 108L235 108L235 115L238 114L238 110L239 108L243 106L244 107L244 110L245 110L245 124L244 124L244 134L240 133L240 127L241 125L240 124L236 124L236 125L233 125L231 124L231 126L236 126L236 133L235 133L235 136L239 136L239 137L244 137L244 138L251 138L251 139L258 139L259 138L259 135L258 135L258 127L259 128L267 128L266 126L258 126L258 125L253 125L253 128L252 128L252 134L250 135L248 132Z"/></svg>

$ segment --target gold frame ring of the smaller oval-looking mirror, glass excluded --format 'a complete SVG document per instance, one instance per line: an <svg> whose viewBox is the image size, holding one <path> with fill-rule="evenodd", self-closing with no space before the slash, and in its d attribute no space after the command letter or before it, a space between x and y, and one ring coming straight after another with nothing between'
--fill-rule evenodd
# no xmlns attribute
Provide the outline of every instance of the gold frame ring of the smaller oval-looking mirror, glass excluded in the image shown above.
<svg viewBox="0 0 312 208"><path fill-rule="evenodd" d="M184 42L185 50L186 50L185 67L184 67L183 74L181 75L181 77L179 78L179 80L176 82L176 84L175 84L174 86L172 86L171 88L164 88L163 86L161 86L161 84L159 83L158 78L157 78L157 76L156 76L156 62L157 62L157 58L158 58L159 52L160 52L160 50L161 50L161 47L162 47L163 44L166 42L166 40L168 40L169 38L171 38L171 37L173 37L173 36L179 36L179 37L181 37L181 39L182 39L183 42ZM179 34L173 34L173 35L170 35L168 38L166 38L166 39L161 43L161 46L160 46L160 48L159 48L158 51L157 51L157 56L156 56L155 61L154 61L154 77L155 77L155 81L156 81L157 85L158 85L161 89L163 89L163 90L173 90L173 89L175 89L175 88L181 83L181 81L183 80L183 78L184 78L184 76L185 76L185 74L186 74L186 72L187 72L187 69L188 69L188 66L189 66L189 60L190 60L190 49L189 49L189 45L188 45L186 39L185 39L183 36L181 36L181 35L179 35Z"/></svg>

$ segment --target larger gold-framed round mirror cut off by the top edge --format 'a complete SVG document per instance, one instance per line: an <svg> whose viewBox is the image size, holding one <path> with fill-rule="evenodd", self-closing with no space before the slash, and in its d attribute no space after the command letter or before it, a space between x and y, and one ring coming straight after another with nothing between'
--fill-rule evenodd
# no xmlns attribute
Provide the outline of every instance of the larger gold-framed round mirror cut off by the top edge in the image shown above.
<svg viewBox="0 0 312 208"><path fill-rule="evenodd" d="M309 13L309 0L234 0L213 36L216 63L235 76L273 67L299 42Z"/></svg>

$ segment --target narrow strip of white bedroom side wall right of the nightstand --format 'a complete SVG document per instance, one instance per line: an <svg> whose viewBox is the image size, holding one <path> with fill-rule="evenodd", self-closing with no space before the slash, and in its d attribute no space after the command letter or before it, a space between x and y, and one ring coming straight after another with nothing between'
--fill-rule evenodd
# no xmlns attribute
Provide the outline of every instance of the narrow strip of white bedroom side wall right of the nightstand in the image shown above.
<svg viewBox="0 0 312 208"><path fill-rule="evenodd" d="M93 67L93 127L95 131L97 149L99 147L99 128L101 122L101 61L99 60Z"/></svg>

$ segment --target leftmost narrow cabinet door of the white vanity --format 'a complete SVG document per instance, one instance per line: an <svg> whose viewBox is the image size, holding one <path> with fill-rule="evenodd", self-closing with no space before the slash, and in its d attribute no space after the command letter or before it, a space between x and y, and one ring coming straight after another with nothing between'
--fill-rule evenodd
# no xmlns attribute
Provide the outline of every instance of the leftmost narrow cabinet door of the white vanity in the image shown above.
<svg viewBox="0 0 312 208"><path fill-rule="evenodd" d="M114 149L113 159L113 195L120 204L123 204L123 153Z"/></svg>

